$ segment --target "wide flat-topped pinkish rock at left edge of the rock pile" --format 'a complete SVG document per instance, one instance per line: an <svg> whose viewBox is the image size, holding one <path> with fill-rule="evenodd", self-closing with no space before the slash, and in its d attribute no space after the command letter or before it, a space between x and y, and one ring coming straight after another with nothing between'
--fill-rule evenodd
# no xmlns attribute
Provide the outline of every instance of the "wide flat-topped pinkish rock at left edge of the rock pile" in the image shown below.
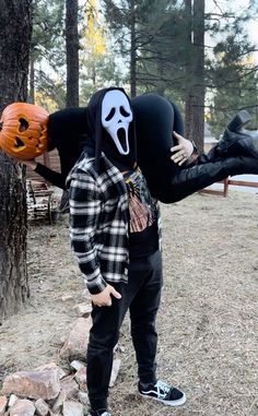
<svg viewBox="0 0 258 416"><path fill-rule="evenodd" d="M60 392L58 369L17 371L5 377L3 394L17 394L30 399L56 399Z"/></svg>

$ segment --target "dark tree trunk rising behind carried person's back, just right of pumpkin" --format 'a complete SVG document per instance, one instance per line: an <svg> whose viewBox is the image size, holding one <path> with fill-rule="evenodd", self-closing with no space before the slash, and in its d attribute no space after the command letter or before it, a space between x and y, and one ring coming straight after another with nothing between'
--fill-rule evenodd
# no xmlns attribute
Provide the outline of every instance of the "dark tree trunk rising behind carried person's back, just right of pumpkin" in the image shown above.
<svg viewBox="0 0 258 416"><path fill-rule="evenodd" d="M78 0L67 0L67 107L79 107Z"/></svg>

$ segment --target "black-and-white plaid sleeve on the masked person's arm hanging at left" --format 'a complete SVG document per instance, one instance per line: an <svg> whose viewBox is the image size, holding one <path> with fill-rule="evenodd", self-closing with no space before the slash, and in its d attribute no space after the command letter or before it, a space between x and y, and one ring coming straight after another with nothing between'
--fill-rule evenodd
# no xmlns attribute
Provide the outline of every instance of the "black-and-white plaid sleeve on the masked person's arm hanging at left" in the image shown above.
<svg viewBox="0 0 258 416"><path fill-rule="evenodd" d="M71 246L92 295L106 287L99 270L95 234L101 213L101 197L95 179L87 174L73 174L70 182Z"/></svg>

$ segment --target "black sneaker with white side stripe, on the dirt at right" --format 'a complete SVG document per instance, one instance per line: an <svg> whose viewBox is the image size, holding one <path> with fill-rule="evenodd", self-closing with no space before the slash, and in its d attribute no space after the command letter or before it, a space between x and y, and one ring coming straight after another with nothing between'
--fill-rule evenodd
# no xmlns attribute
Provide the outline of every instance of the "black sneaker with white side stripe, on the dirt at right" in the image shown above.
<svg viewBox="0 0 258 416"><path fill-rule="evenodd" d="M148 388L143 388L139 383L139 392L143 397L157 400L168 406L180 406L186 403L185 393L161 380L157 380L155 384L148 385Z"/></svg>

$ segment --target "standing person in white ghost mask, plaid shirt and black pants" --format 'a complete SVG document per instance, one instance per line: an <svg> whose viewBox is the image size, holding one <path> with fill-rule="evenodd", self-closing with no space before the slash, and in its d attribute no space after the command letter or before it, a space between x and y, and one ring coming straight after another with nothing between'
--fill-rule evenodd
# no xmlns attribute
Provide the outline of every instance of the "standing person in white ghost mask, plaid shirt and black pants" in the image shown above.
<svg viewBox="0 0 258 416"><path fill-rule="evenodd" d="M90 416L109 416L113 349L129 309L139 392L171 406L186 395L156 377L155 318L162 289L160 210L137 164L130 99L104 88L87 107L85 151L71 170L70 237L90 290L87 347Z"/></svg>

